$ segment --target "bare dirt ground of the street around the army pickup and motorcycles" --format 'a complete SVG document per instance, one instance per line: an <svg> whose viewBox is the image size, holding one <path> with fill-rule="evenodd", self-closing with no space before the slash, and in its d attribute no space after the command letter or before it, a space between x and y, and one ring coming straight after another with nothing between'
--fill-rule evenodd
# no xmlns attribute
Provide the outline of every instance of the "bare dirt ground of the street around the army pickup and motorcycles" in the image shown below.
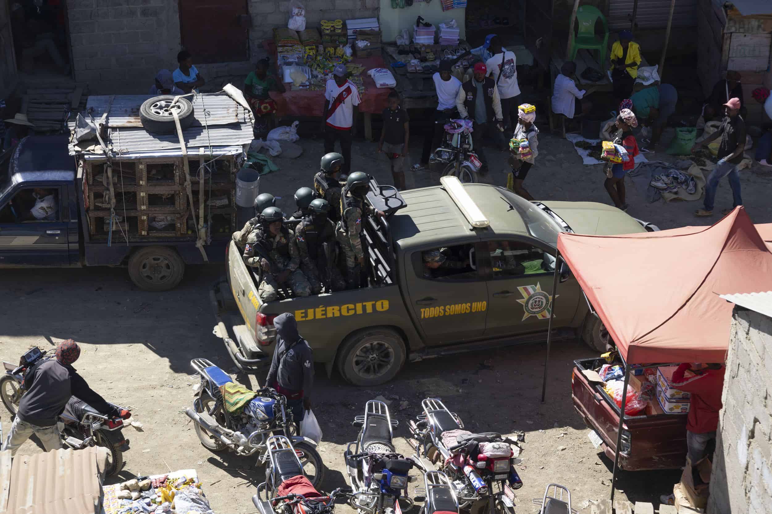
<svg viewBox="0 0 772 514"><path fill-rule="evenodd" d="M281 197L279 207L285 212L294 210L290 208L293 192L309 185L322 153L320 139L299 143L303 156L276 159L282 169L264 176L260 187L261 192ZM411 146L414 160L409 163L418 158L420 139ZM375 143L354 143L353 169L367 170L381 183L391 183L387 160L375 148ZM571 143L548 135L545 128L539 151L526 182L534 197L609 203L600 166L582 166ZM503 184L506 156L495 155L493 150L488 153L492 172L487 180ZM757 167L741 176L750 216L756 223L772 221L769 172ZM437 177L421 172L408 180L425 186L436 183ZM693 217L691 212L701 207L700 202L645 203L644 193L628 181L629 212L663 229L708 224L720 217ZM726 181L716 199L716 210L724 207L731 207ZM658 261L683 266L686 256L662 255ZM235 372L222 342L212 334L208 288L222 273L218 265L188 267L177 289L152 294L138 291L120 269L0 271L0 295L5 299L0 315L0 358L16 361L32 345L47 349L74 338L82 345L77 362L80 373L105 398L129 406L134 418L144 424L143 431L124 430L131 449L124 455L121 479L195 468L215 512L247 514L256 512L250 498L262 482L262 468L255 459L214 454L203 448L184 413L192 403L192 387L198 383L191 376L191 358L209 358ZM544 351L544 345L537 344L419 362L407 365L391 383L369 390L347 385L337 375L327 378L323 367L317 366L313 410L323 428L320 453L327 465L322 489L346 484L342 453L345 443L355 438L356 428L350 421L361 414L365 401L378 395L392 401L392 416L400 421L396 445L409 455L405 423L418 415L422 398L435 396L458 412L472 431L526 432L518 470L525 485L517 491L517 512L537 512L531 499L540 498L550 482L566 485L574 509L590 512L588 501L610 492L612 462L598 455L587 438L587 427L571 405L571 364L594 352L580 341L555 344L548 368L547 401L542 404ZM237 378L256 385L255 378ZM401 405L406 406L400 410ZM0 418L7 429L10 420L4 408L0 408ZM39 451L34 441L19 450L22 454ZM670 492L679 473L623 472L618 498L656 503L659 494ZM350 512L347 506L338 509Z"/></svg>

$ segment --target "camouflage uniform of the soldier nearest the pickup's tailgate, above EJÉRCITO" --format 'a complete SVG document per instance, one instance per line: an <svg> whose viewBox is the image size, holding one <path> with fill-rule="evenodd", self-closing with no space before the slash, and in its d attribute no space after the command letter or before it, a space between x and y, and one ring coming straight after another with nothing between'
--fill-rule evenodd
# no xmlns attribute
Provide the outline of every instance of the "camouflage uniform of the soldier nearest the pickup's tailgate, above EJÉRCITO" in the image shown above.
<svg viewBox="0 0 772 514"><path fill-rule="evenodd" d="M289 286L295 296L309 296L311 285L298 269L300 266L300 253L297 249L295 234L286 227L282 227L278 236L272 237L267 230L256 227L249 234L244 249L244 263L251 267L261 267L262 257L256 250L256 246L262 247L268 254L270 270L262 270L262 281L257 289L262 301L274 301L279 298L279 283L276 277L284 270L289 270L289 276L283 285Z"/></svg>

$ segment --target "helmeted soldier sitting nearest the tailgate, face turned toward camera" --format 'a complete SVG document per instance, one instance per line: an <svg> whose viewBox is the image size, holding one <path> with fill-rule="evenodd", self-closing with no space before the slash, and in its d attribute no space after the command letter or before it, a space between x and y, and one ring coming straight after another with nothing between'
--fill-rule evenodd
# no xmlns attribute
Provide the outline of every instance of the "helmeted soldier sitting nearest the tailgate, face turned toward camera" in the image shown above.
<svg viewBox="0 0 772 514"><path fill-rule="evenodd" d="M262 268L257 293L262 301L279 298L279 287L289 287L295 296L308 296L311 286L300 267L295 234L283 226L279 207L268 207L260 214L260 223L246 241L244 262Z"/></svg>

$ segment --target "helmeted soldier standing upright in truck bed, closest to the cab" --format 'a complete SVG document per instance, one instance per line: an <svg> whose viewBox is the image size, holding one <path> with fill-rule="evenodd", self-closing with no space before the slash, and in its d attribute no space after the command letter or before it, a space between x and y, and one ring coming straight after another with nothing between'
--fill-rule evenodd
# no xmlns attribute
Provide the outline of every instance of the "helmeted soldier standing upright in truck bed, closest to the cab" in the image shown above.
<svg viewBox="0 0 772 514"><path fill-rule="evenodd" d="M340 221L337 223L337 240L346 256L346 281L348 287L360 286L361 270L364 266L362 249L362 223L367 216L383 217L364 199L370 184L370 176L361 171L351 173L340 197Z"/></svg>

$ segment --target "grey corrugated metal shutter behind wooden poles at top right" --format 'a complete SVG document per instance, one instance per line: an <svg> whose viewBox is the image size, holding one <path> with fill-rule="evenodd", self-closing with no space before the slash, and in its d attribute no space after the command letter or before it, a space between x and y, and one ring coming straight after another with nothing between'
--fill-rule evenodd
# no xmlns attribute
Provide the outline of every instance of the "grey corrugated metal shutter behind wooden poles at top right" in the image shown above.
<svg viewBox="0 0 772 514"><path fill-rule="evenodd" d="M608 28L630 28L630 18L635 0L610 0ZM638 29L665 29L668 26L670 0L638 0L635 24ZM697 0L675 0L672 27L696 27Z"/></svg>

